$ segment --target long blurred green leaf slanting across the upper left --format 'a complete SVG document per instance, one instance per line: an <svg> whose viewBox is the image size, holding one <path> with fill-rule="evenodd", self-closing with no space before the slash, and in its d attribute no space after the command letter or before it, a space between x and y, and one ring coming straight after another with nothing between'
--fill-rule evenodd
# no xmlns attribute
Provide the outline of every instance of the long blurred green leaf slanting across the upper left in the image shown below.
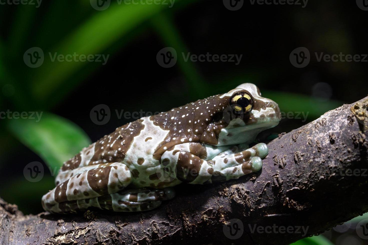
<svg viewBox="0 0 368 245"><path fill-rule="evenodd" d="M163 4L112 4L104 11L96 11L91 18L79 26L52 50L44 50L45 62L33 80L33 93L44 100L57 89L68 76L86 62L52 62L49 53L89 55L102 54L103 50L116 42L123 34L159 12ZM42 48L42 47L41 47ZM106 54L107 55L107 54Z"/></svg>

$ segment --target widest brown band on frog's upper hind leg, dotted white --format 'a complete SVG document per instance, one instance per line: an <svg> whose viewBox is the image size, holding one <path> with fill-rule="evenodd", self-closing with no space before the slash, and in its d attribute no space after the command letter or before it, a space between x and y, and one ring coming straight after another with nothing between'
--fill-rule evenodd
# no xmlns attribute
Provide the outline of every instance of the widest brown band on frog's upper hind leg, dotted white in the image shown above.
<svg viewBox="0 0 368 245"><path fill-rule="evenodd" d="M100 169L91 169L87 173L89 186L99 195L109 194L108 183L111 166L104 167L103 174L100 174Z"/></svg>

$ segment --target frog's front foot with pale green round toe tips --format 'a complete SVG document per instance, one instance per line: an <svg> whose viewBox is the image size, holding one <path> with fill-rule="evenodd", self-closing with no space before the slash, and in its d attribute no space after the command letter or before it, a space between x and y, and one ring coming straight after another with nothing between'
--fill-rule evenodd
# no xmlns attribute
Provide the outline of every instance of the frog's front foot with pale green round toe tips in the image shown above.
<svg viewBox="0 0 368 245"><path fill-rule="evenodd" d="M213 158L215 162L212 182L238 179L262 169L262 159L268 154L265 143L256 144L245 151Z"/></svg>

